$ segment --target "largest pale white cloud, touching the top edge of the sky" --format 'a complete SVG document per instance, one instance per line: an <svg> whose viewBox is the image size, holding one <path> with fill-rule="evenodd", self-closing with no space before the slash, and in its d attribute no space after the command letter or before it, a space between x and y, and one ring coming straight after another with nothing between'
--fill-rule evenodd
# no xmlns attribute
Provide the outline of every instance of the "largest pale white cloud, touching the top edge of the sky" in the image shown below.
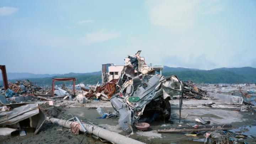
<svg viewBox="0 0 256 144"><path fill-rule="evenodd" d="M149 0L146 7L154 25L165 26L172 31L186 30L200 16L215 14L224 9L219 0Z"/></svg>

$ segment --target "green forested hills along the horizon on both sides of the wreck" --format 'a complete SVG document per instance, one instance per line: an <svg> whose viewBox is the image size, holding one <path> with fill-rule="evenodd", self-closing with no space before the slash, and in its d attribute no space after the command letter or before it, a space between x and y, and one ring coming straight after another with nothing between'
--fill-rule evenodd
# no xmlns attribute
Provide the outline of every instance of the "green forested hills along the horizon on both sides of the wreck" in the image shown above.
<svg viewBox="0 0 256 144"><path fill-rule="evenodd" d="M243 68L218 68L212 70L200 70L200 69L189 69L189 68L172 68L164 66L162 72L163 75L177 75L181 80L193 80L196 83L255 83L256 82L256 68L243 67ZM75 77L80 83L84 84L97 84L101 82L101 71L93 73L68 73L62 75L49 76L46 78L18 78L17 80L29 79L36 82L38 85L51 85L52 78L63 78L63 77ZM9 75L8 75L9 78ZM9 80L15 82L15 80ZM62 84L63 82L57 82L56 84ZM71 84L71 82L64 82L65 84ZM76 83L78 84L78 83ZM2 85L2 81L0 81Z"/></svg>

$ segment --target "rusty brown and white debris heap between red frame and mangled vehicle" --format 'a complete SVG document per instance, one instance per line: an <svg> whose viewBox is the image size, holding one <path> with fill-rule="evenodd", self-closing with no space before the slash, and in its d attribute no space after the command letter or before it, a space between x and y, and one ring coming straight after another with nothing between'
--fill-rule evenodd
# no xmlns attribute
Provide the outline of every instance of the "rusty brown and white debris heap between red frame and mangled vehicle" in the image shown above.
<svg viewBox="0 0 256 144"><path fill-rule="evenodd" d="M82 90L86 91L85 97L88 99L101 99L101 100L109 100L112 95L115 93L115 87L118 79L113 79L105 85L96 85L92 86L90 89L85 89L81 87Z"/></svg>

